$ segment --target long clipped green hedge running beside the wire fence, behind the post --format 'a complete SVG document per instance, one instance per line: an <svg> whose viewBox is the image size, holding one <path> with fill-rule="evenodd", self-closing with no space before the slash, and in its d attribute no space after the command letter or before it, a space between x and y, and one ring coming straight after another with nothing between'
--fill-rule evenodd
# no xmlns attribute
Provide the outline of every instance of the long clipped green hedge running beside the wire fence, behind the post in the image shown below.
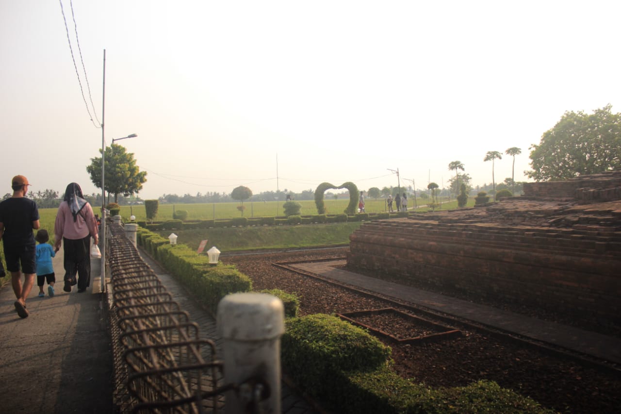
<svg viewBox="0 0 621 414"><path fill-rule="evenodd" d="M168 239L138 228L137 242L170 274L194 293L215 316L220 300L230 293L250 292L252 280L233 265L209 264L206 255L196 254L185 244L171 245Z"/></svg>

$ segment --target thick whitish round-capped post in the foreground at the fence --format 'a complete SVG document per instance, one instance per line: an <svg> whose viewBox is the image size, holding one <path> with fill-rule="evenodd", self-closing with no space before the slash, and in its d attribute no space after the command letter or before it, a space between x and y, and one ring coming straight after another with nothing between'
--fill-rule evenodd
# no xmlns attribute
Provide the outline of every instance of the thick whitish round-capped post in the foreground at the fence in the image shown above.
<svg viewBox="0 0 621 414"><path fill-rule="evenodd" d="M240 385L259 377L267 382L269 388L253 390L252 384L246 383L236 390L225 392L225 412L250 412L253 399L260 399L260 392L263 392L269 393L269 396L258 403L259 412L280 414L283 301L265 293L227 295L218 304L217 329L223 339L224 384Z"/></svg>

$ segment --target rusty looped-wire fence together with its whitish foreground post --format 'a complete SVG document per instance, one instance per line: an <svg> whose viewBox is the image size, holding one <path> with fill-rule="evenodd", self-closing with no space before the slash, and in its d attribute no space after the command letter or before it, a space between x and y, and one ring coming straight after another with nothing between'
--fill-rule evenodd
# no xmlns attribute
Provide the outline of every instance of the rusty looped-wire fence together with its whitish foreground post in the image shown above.
<svg viewBox="0 0 621 414"><path fill-rule="evenodd" d="M107 315L117 412L217 413L225 397L229 412L279 412L282 302L261 293L220 301L225 311L218 311L218 326L229 366L224 375L214 341L201 338L199 326L145 264L122 226L107 223ZM262 323L266 326L255 329Z"/></svg>

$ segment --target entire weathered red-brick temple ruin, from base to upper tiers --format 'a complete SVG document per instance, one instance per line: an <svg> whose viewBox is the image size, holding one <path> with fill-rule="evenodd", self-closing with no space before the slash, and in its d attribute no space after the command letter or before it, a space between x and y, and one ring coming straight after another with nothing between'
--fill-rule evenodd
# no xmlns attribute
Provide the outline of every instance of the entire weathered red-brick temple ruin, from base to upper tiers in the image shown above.
<svg viewBox="0 0 621 414"><path fill-rule="evenodd" d="M348 265L621 326L621 171L474 208L374 220Z"/></svg>

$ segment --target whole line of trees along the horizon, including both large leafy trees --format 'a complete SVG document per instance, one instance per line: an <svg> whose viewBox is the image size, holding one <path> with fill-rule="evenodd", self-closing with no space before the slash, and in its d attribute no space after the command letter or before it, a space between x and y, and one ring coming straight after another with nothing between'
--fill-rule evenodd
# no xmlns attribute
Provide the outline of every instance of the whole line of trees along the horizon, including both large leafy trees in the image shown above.
<svg viewBox="0 0 621 414"><path fill-rule="evenodd" d="M604 108L595 109L592 114L584 111L566 111L561 116L560 121L555 126L544 132L539 144L532 144L530 150L530 165L532 170L524 173L528 178L540 181L568 180L569 178L580 175L590 175L611 170L621 170L621 113L612 113L612 105L607 104ZM127 152L125 147L119 144L111 144L106 147L105 157L105 191L106 205L110 202L110 197L114 196L114 202L119 205L127 205L135 200L140 200L138 193L142 186L147 182L147 172L140 171L133 153ZM477 190L489 191L494 194L497 190L504 188L510 189L512 193L519 193L522 183L514 182L515 157L520 155L522 150L517 147L510 147L504 154L513 159L512 177L505 178L504 182L496 185L495 163L502 159L502 153L498 151L487 151L483 161L491 161L492 182L491 191L489 186L479 186ZM101 155L101 149L99 149ZM91 182L101 188L101 163L100 157L91 159L91 163L86 167L91 178ZM451 177L448 182L448 196L458 196L461 184L466 185L466 191L473 190L470 184L471 177L465 173L465 165L459 160L448 163L448 170L455 171L455 177ZM460 173L462 171L463 173ZM429 183L429 185L435 183ZM437 184L435 184L437 185ZM505 187L506 186L506 187ZM412 186L404 186L405 191L410 194L417 194L425 197L428 188L414 189ZM397 191L401 190L397 189ZM367 196L379 198L381 196L394 195L395 187L386 186L381 189L371 187L365 191ZM440 191L442 195L443 190ZM29 198L37 201L40 208L53 208L60 205L62 195L58 191L45 189L33 193L30 191ZM296 200L314 200L314 190L304 190L301 193L292 193L287 189L281 191L263 191L262 193L251 195L247 200L250 201L283 201L286 196ZM327 198L338 198L338 194L326 193ZM2 200L11 197L11 193L6 193ZM84 195L84 198L91 205L102 205L102 195L93 193ZM235 200L230 194L207 192L183 196L176 194L164 194L159 200L165 203L220 203Z"/></svg>

